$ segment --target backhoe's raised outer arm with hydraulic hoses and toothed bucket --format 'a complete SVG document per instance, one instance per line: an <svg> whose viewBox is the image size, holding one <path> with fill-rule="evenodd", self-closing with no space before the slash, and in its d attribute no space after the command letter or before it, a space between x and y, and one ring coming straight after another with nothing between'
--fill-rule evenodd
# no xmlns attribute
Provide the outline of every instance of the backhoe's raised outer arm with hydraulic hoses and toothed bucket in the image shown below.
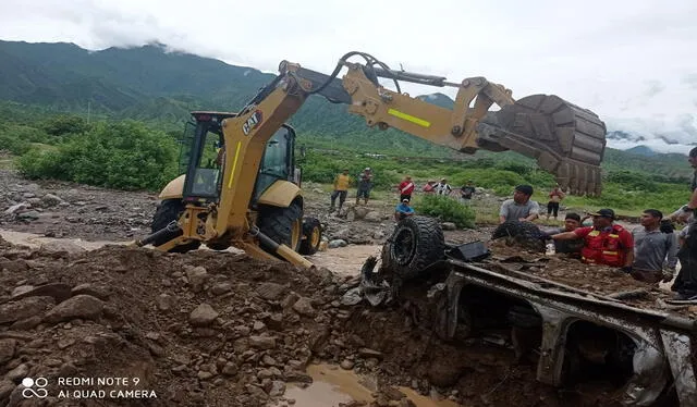
<svg viewBox="0 0 697 407"><path fill-rule="evenodd" d="M363 115L368 126L394 127L465 153L478 149L516 151L537 160L571 194L601 194L607 130L594 112L554 95L516 101L511 90L484 77L451 83L441 76L393 71L375 60L358 64L345 59L338 65L348 70L341 79L339 70L325 75L288 61L281 62L279 71L281 76L295 76L310 94L348 104L348 111ZM374 66L376 63L383 66ZM384 88L378 78L393 79L396 91ZM455 87L454 107L442 108L403 94L400 81ZM501 109L489 111L494 103Z"/></svg>

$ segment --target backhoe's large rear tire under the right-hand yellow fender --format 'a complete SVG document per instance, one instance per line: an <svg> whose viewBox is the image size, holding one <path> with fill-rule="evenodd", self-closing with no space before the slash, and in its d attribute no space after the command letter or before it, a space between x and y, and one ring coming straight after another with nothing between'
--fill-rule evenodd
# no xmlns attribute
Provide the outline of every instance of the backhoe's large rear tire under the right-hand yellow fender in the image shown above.
<svg viewBox="0 0 697 407"><path fill-rule="evenodd" d="M260 206L257 226L271 240L297 251L303 231L303 208L293 201L288 208ZM278 257L278 256L277 256Z"/></svg>

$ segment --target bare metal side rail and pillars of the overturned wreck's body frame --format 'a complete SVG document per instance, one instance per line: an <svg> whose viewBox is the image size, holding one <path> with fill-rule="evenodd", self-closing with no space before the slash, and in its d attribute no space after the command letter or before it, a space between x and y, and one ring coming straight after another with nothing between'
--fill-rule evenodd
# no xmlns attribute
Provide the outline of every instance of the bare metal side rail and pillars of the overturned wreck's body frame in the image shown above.
<svg viewBox="0 0 697 407"><path fill-rule="evenodd" d="M461 294L468 285L488 288L527 301L542 318L537 380L562 384L564 347L568 328L577 321L610 328L626 334L636 345L634 374L624 388L622 403L651 406L673 383L682 406L697 406L697 381L693 362L695 320L659 310L647 310L614 298L557 284L530 280L522 272L506 275L460 259L448 258L444 282L447 316L439 330L452 337L458 323ZM486 267L486 264L481 264Z"/></svg>

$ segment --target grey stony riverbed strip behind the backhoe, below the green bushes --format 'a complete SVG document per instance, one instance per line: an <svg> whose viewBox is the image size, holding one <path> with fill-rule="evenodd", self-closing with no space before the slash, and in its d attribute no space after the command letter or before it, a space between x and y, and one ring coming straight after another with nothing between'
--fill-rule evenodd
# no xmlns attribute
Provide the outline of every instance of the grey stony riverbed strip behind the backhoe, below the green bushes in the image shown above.
<svg viewBox="0 0 697 407"><path fill-rule="evenodd" d="M132 240L150 233L157 194L122 192L66 182L29 182L0 169L0 229L49 237L85 240ZM382 244L394 226L392 203L370 201L368 207L346 206L338 217L328 211L329 194L318 185L304 185L306 215L318 218L329 240L345 244ZM453 242L487 239L490 229L448 231Z"/></svg>

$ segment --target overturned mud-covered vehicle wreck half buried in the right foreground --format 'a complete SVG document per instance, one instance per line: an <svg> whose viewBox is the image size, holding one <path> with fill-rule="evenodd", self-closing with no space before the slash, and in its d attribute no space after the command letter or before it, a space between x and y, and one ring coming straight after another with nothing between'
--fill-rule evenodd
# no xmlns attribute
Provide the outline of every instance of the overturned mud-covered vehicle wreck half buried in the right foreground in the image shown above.
<svg viewBox="0 0 697 407"><path fill-rule="evenodd" d="M439 221L411 217L381 258L368 259L364 280L372 288L388 281L398 301L427 289L421 323L442 341L493 337L516 360L537 363L542 383L607 379L622 405L697 406L694 309L613 269L514 240L452 245Z"/></svg>

